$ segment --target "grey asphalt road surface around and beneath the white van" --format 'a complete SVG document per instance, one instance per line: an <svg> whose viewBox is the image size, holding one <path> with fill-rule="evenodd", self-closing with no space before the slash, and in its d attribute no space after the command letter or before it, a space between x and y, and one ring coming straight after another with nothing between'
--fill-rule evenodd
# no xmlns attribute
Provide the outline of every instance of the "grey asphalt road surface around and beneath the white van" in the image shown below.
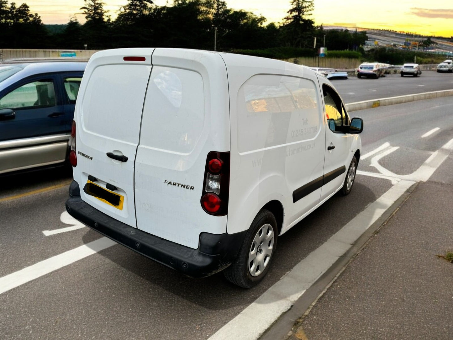
<svg viewBox="0 0 453 340"><path fill-rule="evenodd" d="M344 84L351 92L361 84L382 84L380 91L386 92L386 81L420 79L351 78ZM334 84L343 93L339 83ZM412 174L453 138L452 109L453 97L444 97L354 112L365 122L362 155L389 143L398 149L380 164ZM0 338L207 339L390 189L390 180L365 174L376 173L368 158L360 161L359 170L364 174L357 175L350 195L334 196L279 239L270 272L257 287L232 286L221 273L199 280L184 277L113 245L1 293ZM64 209L68 180L62 169L0 179L0 278L101 238L87 227L43 233L72 225Z"/></svg>

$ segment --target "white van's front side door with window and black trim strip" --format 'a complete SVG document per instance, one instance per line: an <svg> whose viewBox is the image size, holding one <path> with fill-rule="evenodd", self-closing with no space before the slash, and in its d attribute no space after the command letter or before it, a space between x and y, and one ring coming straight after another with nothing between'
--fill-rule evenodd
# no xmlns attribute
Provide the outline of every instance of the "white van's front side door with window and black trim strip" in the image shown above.
<svg viewBox="0 0 453 340"><path fill-rule="evenodd" d="M341 188L347 167L352 159L352 134L344 133L350 119L338 93L323 78L319 77L323 90L326 119L326 150L324 158L324 185L321 201Z"/></svg>

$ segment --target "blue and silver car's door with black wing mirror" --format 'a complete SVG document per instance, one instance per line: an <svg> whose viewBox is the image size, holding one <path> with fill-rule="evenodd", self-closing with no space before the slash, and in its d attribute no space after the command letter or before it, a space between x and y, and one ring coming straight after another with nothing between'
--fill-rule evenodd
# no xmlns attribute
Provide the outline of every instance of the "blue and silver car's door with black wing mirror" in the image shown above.
<svg viewBox="0 0 453 340"><path fill-rule="evenodd" d="M63 162L69 140L58 78L25 78L0 92L0 173Z"/></svg>

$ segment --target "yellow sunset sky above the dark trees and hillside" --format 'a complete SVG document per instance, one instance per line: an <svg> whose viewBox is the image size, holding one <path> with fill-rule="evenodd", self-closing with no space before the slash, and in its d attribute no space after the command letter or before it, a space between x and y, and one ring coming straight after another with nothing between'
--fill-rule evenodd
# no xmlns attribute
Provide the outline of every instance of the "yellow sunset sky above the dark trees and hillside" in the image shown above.
<svg viewBox="0 0 453 340"><path fill-rule="evenodd" d="M8 3L12 0L8 0ZM83 0L15 0L25 2L38 13L44 24L66 24L80 13ZM112 18L127 0L104 0ZM156 5L171 5L173 0L154 0ZM228 8L263 15L268 22L282 22L290 0L226 0ZM83 15L76 15L84 22ZM314 0L311 18L316 25L392 29L425 35L453 36L453 2L451 0Z"/></svg>

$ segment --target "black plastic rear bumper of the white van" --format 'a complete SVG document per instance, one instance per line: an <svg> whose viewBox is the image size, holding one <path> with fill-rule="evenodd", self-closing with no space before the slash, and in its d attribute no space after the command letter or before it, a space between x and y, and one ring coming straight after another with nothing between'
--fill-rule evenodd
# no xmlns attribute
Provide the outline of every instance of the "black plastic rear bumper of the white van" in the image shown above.
<svg viewBox="0 0 453 340"><path fill-rule="evenodd" d="M245 233L200 233L193 249L130 227L82 201L76 181L69 187L66 210L98 233L146 257L191 277L207 277L228 267L241 248Z"/></svg>

